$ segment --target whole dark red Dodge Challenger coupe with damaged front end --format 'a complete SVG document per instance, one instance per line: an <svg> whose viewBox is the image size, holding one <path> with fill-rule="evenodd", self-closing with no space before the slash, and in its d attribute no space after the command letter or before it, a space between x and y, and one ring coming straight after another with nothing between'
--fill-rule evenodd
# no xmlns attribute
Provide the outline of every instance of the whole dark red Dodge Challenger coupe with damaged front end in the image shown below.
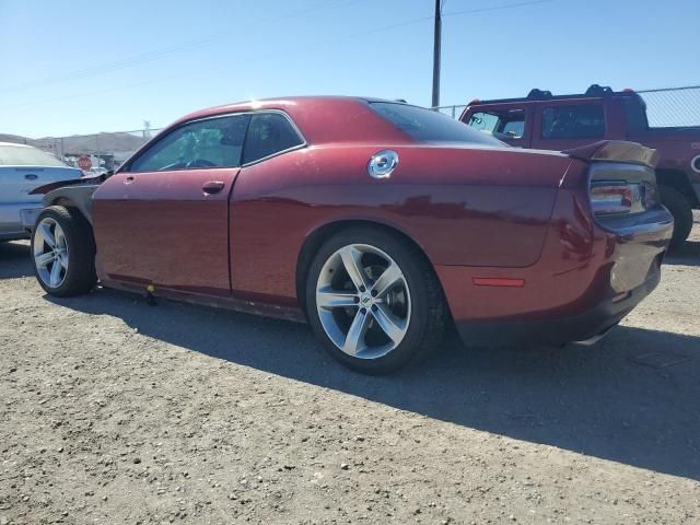
<svg viewBox="0 0 700 525"><path fill-rule="evenodd" d="M439 113L291 97L194 113L116 173L45 187L46 292L307 320L366 373L467 345L593 341L658 283L655 151L521 150Z"/></svg>

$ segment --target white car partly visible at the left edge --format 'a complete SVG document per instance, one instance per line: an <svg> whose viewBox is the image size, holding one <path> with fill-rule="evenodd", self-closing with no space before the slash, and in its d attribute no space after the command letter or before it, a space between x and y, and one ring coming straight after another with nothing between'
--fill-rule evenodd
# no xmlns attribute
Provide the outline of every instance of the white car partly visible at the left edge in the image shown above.
<svg viewBox="0 0 700 525"><path fill-rule="evenodd" d="M30 195L45 184L80 178L82 172L25 144L0 142L0 241L30 238L42 211L42 195Z"/></svg>

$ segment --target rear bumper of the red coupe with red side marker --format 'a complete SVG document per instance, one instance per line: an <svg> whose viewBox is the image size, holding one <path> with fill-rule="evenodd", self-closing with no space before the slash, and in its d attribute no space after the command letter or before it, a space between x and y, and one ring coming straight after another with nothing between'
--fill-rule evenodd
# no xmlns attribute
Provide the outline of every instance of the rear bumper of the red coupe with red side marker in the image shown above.
<svg viewBox="0 0 700 525"><path fill-rule="evenodd" d="M466 345L561 345L604 332L654 290L672 233L664 208L596 222L585 192L561 190L532 267L435 270ZM522 285L482 284L503 280Z"/></svg>

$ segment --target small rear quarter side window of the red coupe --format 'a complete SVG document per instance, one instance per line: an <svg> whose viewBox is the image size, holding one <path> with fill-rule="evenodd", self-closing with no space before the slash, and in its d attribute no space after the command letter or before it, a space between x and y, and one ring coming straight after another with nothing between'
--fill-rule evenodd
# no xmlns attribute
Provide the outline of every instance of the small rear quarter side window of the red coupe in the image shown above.
<svg viewBox="0 0 700 525"><path fill-rule="evenodd" d="M303 144L290 121L279 113L253 115L243 149L243 164Z"/></svg>

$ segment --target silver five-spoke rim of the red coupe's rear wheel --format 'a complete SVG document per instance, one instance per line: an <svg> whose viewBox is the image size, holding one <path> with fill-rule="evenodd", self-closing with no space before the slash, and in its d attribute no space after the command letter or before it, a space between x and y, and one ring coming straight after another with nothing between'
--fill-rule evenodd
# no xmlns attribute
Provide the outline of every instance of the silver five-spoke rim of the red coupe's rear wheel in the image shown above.
<svg viewBox="0 0 700 525"><path fill-rule="evenodd" d="M318 318L330 340L345 353L377 359L406 336L411 298L399 266L366 244L332 254L316 283Z"/></svg>

